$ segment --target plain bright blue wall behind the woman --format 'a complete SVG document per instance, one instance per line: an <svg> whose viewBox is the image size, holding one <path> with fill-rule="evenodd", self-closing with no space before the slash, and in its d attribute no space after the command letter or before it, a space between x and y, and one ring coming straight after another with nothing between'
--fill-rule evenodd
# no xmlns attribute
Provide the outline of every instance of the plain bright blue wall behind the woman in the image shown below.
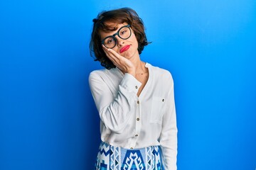
<svg viewBox="0 0 256 170"><path fill-rule="evenodd" d="M174 77L178 169L256 168L256 1L0 1L0 169L92 169L92 18L128 6Z"/></svg>

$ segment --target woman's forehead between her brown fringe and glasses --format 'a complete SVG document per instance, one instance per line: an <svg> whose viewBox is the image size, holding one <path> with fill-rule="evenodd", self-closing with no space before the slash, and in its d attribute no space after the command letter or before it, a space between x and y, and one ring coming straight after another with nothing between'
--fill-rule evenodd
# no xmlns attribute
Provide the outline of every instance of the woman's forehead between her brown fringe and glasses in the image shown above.
<svg viewBox="0 0 256 170"><path fill-rule="evenodd" d="M117 30L119 30L119 28L122 26L127 26L127 23L105 23L105 26L107 26L108 30L100 30L100 38L105 38L107 36L113 35L114 33L117 33Z"/></svg>

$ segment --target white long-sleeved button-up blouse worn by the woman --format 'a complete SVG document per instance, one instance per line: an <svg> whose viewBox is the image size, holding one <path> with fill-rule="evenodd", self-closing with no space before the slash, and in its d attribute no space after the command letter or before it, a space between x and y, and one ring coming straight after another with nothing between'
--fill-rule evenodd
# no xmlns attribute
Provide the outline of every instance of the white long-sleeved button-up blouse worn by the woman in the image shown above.
<svg viewBox="0 0 256 170"><path fill-rule="evenodd" d="M101 140L116 147L137 149L160 145L164 168L176 169L177 127L174 81L170 72L146 63L149 79L142 85L118 68L90 73L89 83L100 114Z"/></svg>

